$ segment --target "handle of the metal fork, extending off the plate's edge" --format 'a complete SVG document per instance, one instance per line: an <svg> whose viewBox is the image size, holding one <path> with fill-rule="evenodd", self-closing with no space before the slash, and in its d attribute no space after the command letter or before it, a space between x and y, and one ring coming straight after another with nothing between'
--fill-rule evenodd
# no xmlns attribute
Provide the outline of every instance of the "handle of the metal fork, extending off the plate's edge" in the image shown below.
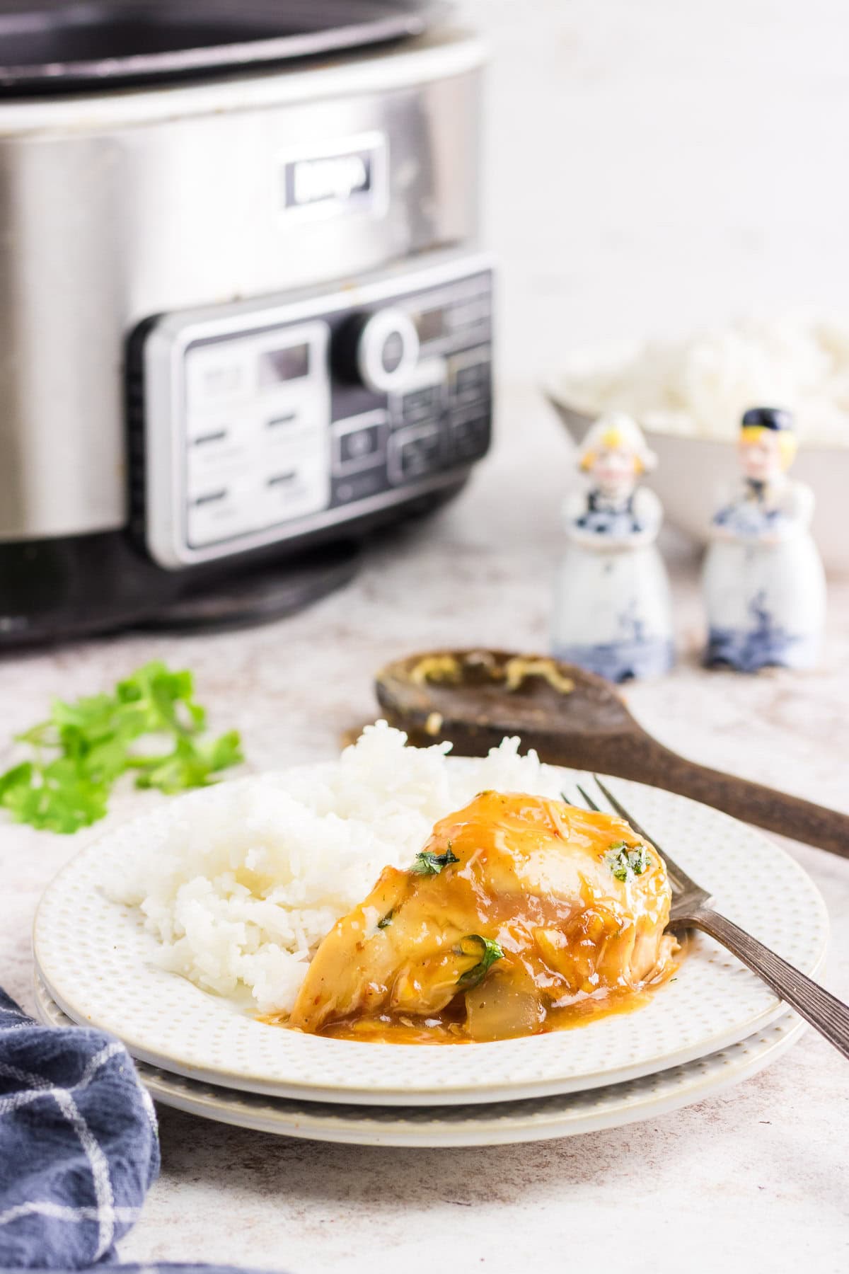
<svg viewBox="0 0 849 1274"><path fill-rule="evenodd" d="M709 907L699 907L686 917L686 924L710 934L733 952L754 973L762 977L780 999L785 1000L810 1022L821 1036L849 1057L849 1006L831 995L818 982L788 964L769 947L764 947L733 920Z"/></svg>

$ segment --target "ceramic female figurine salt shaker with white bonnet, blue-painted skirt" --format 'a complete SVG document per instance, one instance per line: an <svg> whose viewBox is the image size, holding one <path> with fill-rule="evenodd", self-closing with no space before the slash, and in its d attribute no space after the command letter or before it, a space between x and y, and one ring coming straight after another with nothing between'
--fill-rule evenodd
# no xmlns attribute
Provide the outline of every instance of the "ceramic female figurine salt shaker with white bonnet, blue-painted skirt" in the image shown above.
<svg viewBox="0 0 849 1274"><path fill-rule="evenodd" d="M611 682L666 673L675 661L670 585L654 547L663 510L640 474L656 457L630 417L598 420L578 456L588 483L564 503L569 543L558 572L558 659Z"/></svg>

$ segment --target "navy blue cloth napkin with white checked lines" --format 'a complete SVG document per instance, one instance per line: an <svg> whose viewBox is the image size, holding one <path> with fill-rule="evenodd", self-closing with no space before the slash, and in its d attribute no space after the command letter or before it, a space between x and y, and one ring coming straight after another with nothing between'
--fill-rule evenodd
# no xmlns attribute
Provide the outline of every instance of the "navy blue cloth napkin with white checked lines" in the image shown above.
<svg viewBox="0 0 849 1274"><path fill-rule="evenodd" d="M158 1171L157 1116L123 1045L39 1026L0 990L0 1271L109 1261Z"/></svg>

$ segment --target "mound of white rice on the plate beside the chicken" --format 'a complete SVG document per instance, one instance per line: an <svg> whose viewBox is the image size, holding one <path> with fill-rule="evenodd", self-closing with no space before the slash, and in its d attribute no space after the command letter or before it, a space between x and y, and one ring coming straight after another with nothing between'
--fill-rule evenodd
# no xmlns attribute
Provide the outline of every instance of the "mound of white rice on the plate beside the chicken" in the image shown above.
<svg viewBox="0 0 849 1274"><path fill-rule="evenodd" d="M558 796L536 753L406 747L384 721L339 761L221 784L174 806L149 859L111 893L141 908L162 963L260 1012L291 1009L309 959L387 864L407 866L433 824L484 789Z"/></svg>

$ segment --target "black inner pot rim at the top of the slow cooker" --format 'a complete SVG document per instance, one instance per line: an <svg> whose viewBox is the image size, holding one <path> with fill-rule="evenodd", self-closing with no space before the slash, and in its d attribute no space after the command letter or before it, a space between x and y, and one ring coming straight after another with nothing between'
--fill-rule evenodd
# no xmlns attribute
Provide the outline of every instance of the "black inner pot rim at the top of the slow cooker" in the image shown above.
<svg viewBox="0 0 849 1274"><path fill-rule="evenodd" d="M0 92L316 57L421 34L444 9L434 0L0 0Z"/></svg>

